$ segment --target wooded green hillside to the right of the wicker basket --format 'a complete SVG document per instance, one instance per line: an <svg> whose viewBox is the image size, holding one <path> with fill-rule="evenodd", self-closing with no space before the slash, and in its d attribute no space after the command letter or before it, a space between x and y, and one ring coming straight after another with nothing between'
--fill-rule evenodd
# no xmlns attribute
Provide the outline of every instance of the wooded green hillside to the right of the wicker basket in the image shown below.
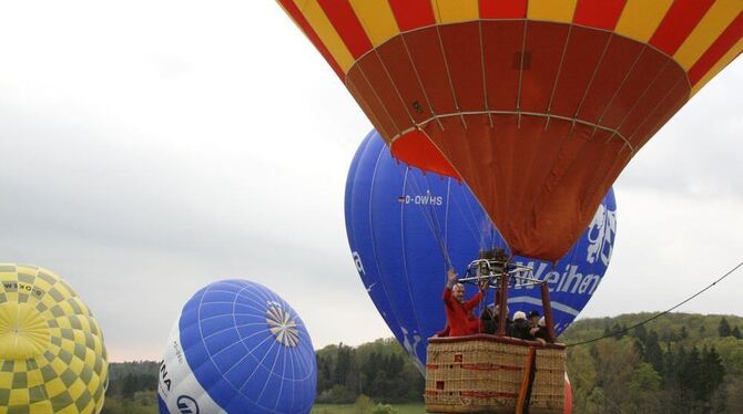
<svg viewBox="0 0 743 414"><path fill-rule="evenodd" d="M655 313L582 319L560 341L627 330ZM577 413L743 413L743 318L670 313L569 348Z"/></svg>

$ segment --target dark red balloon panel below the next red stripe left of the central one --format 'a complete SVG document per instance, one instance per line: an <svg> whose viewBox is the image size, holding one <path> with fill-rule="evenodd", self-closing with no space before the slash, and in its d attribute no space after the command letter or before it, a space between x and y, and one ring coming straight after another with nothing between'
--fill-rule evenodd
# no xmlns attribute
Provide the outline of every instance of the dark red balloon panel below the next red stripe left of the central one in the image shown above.
<svg viewBox="0 0 743 414"><path fill-rule="evenodd" d="M418 71L424 90L436 114L456 112L454 92L449 85L444 54L437 28L427 28L403 34L410 52L413 64Z"/></svg>

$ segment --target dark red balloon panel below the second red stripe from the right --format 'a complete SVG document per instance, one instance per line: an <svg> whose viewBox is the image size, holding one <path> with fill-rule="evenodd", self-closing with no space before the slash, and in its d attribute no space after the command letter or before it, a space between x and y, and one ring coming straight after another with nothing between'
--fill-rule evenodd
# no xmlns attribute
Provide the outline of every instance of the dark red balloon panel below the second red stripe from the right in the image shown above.
<svg viewBox="0 0 743 414"><path fill-rule="evenodd" d="M619 93L611 100L609 107L599 123L615 128L627 114L634 107L638 100L645 93L650 83L655 80L669 58L658 51L645 48L632 71L627 75ZM662 95L661 95L662 96Z"/></svg>

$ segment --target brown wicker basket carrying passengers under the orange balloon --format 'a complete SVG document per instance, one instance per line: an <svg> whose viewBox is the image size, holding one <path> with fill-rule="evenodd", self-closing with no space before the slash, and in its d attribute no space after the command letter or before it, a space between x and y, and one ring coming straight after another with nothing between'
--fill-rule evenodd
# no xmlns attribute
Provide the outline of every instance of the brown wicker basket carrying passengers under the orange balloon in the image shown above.
<svg viewBox="0 0 743 414"><path fill-rule="evenodd" d="M564 345L485 334L428 341L426 411L513 413L530 348L536 350L536 375L529 412L561 414Z"/></svg>

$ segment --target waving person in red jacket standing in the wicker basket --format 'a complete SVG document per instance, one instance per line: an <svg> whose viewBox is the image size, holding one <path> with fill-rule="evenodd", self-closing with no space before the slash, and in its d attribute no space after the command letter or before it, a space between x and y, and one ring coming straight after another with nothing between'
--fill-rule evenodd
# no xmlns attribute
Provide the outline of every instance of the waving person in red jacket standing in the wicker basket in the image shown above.
<svg viewBox="0 0 743 414"><path fill-rule="evenodd" d="M487 281L480 283L480 291L472 299L465 301L465 286L455 283L457 273L454 269L447 272L447 283L444 288L444 304L446 309L446 323L449 337L464 337L480 331L480 320L475 318L472 309L480 303L482 290L487 288Z"/></svg>

